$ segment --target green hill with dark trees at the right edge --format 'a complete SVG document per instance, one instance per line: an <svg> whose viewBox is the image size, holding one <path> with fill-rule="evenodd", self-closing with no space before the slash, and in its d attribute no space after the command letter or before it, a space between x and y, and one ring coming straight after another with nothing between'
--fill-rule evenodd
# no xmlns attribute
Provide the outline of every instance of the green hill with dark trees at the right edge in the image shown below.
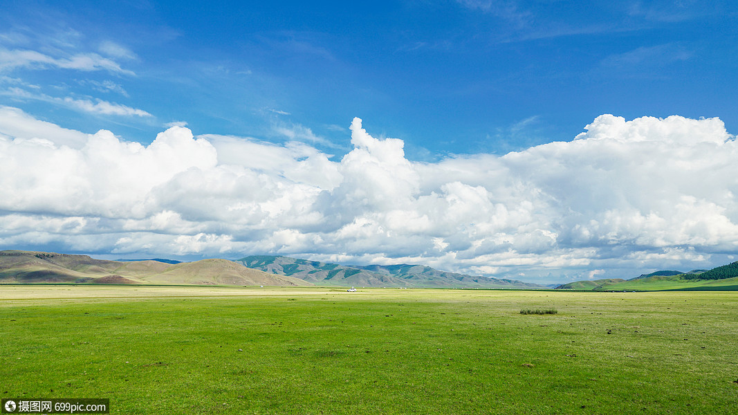
<svg viewBox="0 0 738 415"><path fill-rule="evenodd" d="M574 281L562 284L556 289L577 289L587 291L630 291L630 290L711 290L738 291L738 261L715 267L712 270L692 270L689 272L662 270L642 274L628 280L623 278L604 278L601 280Z"/></svg>

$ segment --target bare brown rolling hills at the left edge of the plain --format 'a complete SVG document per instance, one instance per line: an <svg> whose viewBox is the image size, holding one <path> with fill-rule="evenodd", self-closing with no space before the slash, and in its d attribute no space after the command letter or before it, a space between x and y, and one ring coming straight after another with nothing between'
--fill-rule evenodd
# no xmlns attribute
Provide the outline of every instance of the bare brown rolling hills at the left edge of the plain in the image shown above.
<svg viewBox="0 0 738 415"><path fill-rule="evenodd" d="M18 250L0 251L0 283L311 285L299 278L252 270L225 259L168 264Z"/></svg>

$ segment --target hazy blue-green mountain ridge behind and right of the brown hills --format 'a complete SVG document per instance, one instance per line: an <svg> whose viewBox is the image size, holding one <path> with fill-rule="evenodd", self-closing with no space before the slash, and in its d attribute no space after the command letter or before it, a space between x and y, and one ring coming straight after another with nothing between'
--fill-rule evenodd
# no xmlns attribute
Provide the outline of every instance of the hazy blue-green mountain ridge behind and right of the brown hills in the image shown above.
<svg viewBox="0 0 738 415"><path fill-rule="evenodd" d="M286 256L253 255L237 259L246 267L287 275L320 286L427 288L547 288L523 281L475 277L423 265L339 265Z"/></svg>

